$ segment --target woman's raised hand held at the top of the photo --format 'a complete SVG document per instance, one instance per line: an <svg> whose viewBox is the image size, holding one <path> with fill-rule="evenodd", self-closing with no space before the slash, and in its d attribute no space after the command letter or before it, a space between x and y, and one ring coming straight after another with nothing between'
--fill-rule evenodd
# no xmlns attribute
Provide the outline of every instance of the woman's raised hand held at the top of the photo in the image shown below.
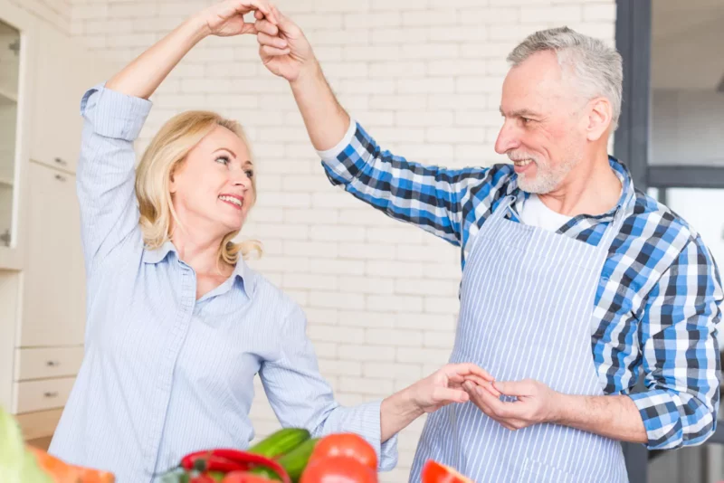
<svg viewBox="0 0 724 483"><path fill-rule="evenodd" d="M243 15L261 12L271 24L277 24L271 5L267 0L224 0L202 10L198 15L208 27L208 32L219 37L230 37L243 33L256 33L252 22L245 22Z"/></svg>

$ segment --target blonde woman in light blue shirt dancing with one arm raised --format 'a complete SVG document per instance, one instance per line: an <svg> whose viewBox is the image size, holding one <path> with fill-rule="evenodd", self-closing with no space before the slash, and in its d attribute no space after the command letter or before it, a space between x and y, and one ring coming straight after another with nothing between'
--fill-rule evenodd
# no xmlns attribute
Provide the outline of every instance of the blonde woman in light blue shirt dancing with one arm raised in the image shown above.
<svg viewBox="0 0 724 483"><path fill-rule="evenodd" d="M447 365L382 402L339 406L319 375L302 311L244 264L252 243L232 242L256 194L242 129L214 113L181 114L134 174L132 143L148 97L206 35L254 33L243 22L251 11L275 21L266 0L209 7L81 102L88 324L50 452L113 471L121 483L151 480L190 451L247 447L257 373L283 426L357 432L380 454L381 469L395 464L397 431L466 401L463 379L490 380L472 365Z"/></svg>

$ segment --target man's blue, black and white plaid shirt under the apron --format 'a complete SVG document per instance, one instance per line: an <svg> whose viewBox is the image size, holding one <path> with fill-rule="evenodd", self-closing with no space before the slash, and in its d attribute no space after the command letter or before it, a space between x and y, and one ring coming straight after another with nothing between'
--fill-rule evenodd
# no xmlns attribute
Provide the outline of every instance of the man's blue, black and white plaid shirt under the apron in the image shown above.
<svg viewBox="0 0 724 483"><path fill-rule="evenodd" d="M463 268L468 242L500 200L517 197L510 219L519 222L529 196L510 165L420 165L383 151L355 122L337 147L319 155L333 185L461 246ZM610 164L624 194L633 190L625 166L614 158ZM595 368L606 394L629 394L643 369L647 391L630 397L649 449L700 444L716 429L719 411L719 272L691 226L650 196L635 196L595 294ZM558 232L596 245L613 215L577 215Z"/></svg>

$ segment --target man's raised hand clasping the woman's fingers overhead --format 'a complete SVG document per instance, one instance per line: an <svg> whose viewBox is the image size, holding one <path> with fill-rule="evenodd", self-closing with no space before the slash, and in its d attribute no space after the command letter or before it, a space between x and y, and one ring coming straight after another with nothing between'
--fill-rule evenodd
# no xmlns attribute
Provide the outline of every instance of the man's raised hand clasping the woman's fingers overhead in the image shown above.
<svg viewBox="0 0 724 483"><path fill-rule="evenodd" d="M281 14L275 6L271 7L274 24L262 12L257 11L256 39L259 42L259 56L271 73L290 82L299 79L304 71L319 68L311 45L297 24Z"/></svg>

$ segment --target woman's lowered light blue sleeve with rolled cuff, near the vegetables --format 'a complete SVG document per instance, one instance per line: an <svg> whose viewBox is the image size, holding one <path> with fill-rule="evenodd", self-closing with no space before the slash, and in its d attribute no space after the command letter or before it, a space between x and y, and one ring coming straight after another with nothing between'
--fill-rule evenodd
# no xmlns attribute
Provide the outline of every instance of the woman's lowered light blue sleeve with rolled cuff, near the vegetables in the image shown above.
<svg viewBox="0 0 724 483"><path fill-rule="evenodd" d="M381 471L395 468L396 435L385 442L380 440L382 401L352 407L339 405L332 388L319 374L306 326L303 311L295 306L281 331L281 356L264 361L260 370L264 391L281 425L306 428L314 436L357 433L375 448Z"/></svg>

